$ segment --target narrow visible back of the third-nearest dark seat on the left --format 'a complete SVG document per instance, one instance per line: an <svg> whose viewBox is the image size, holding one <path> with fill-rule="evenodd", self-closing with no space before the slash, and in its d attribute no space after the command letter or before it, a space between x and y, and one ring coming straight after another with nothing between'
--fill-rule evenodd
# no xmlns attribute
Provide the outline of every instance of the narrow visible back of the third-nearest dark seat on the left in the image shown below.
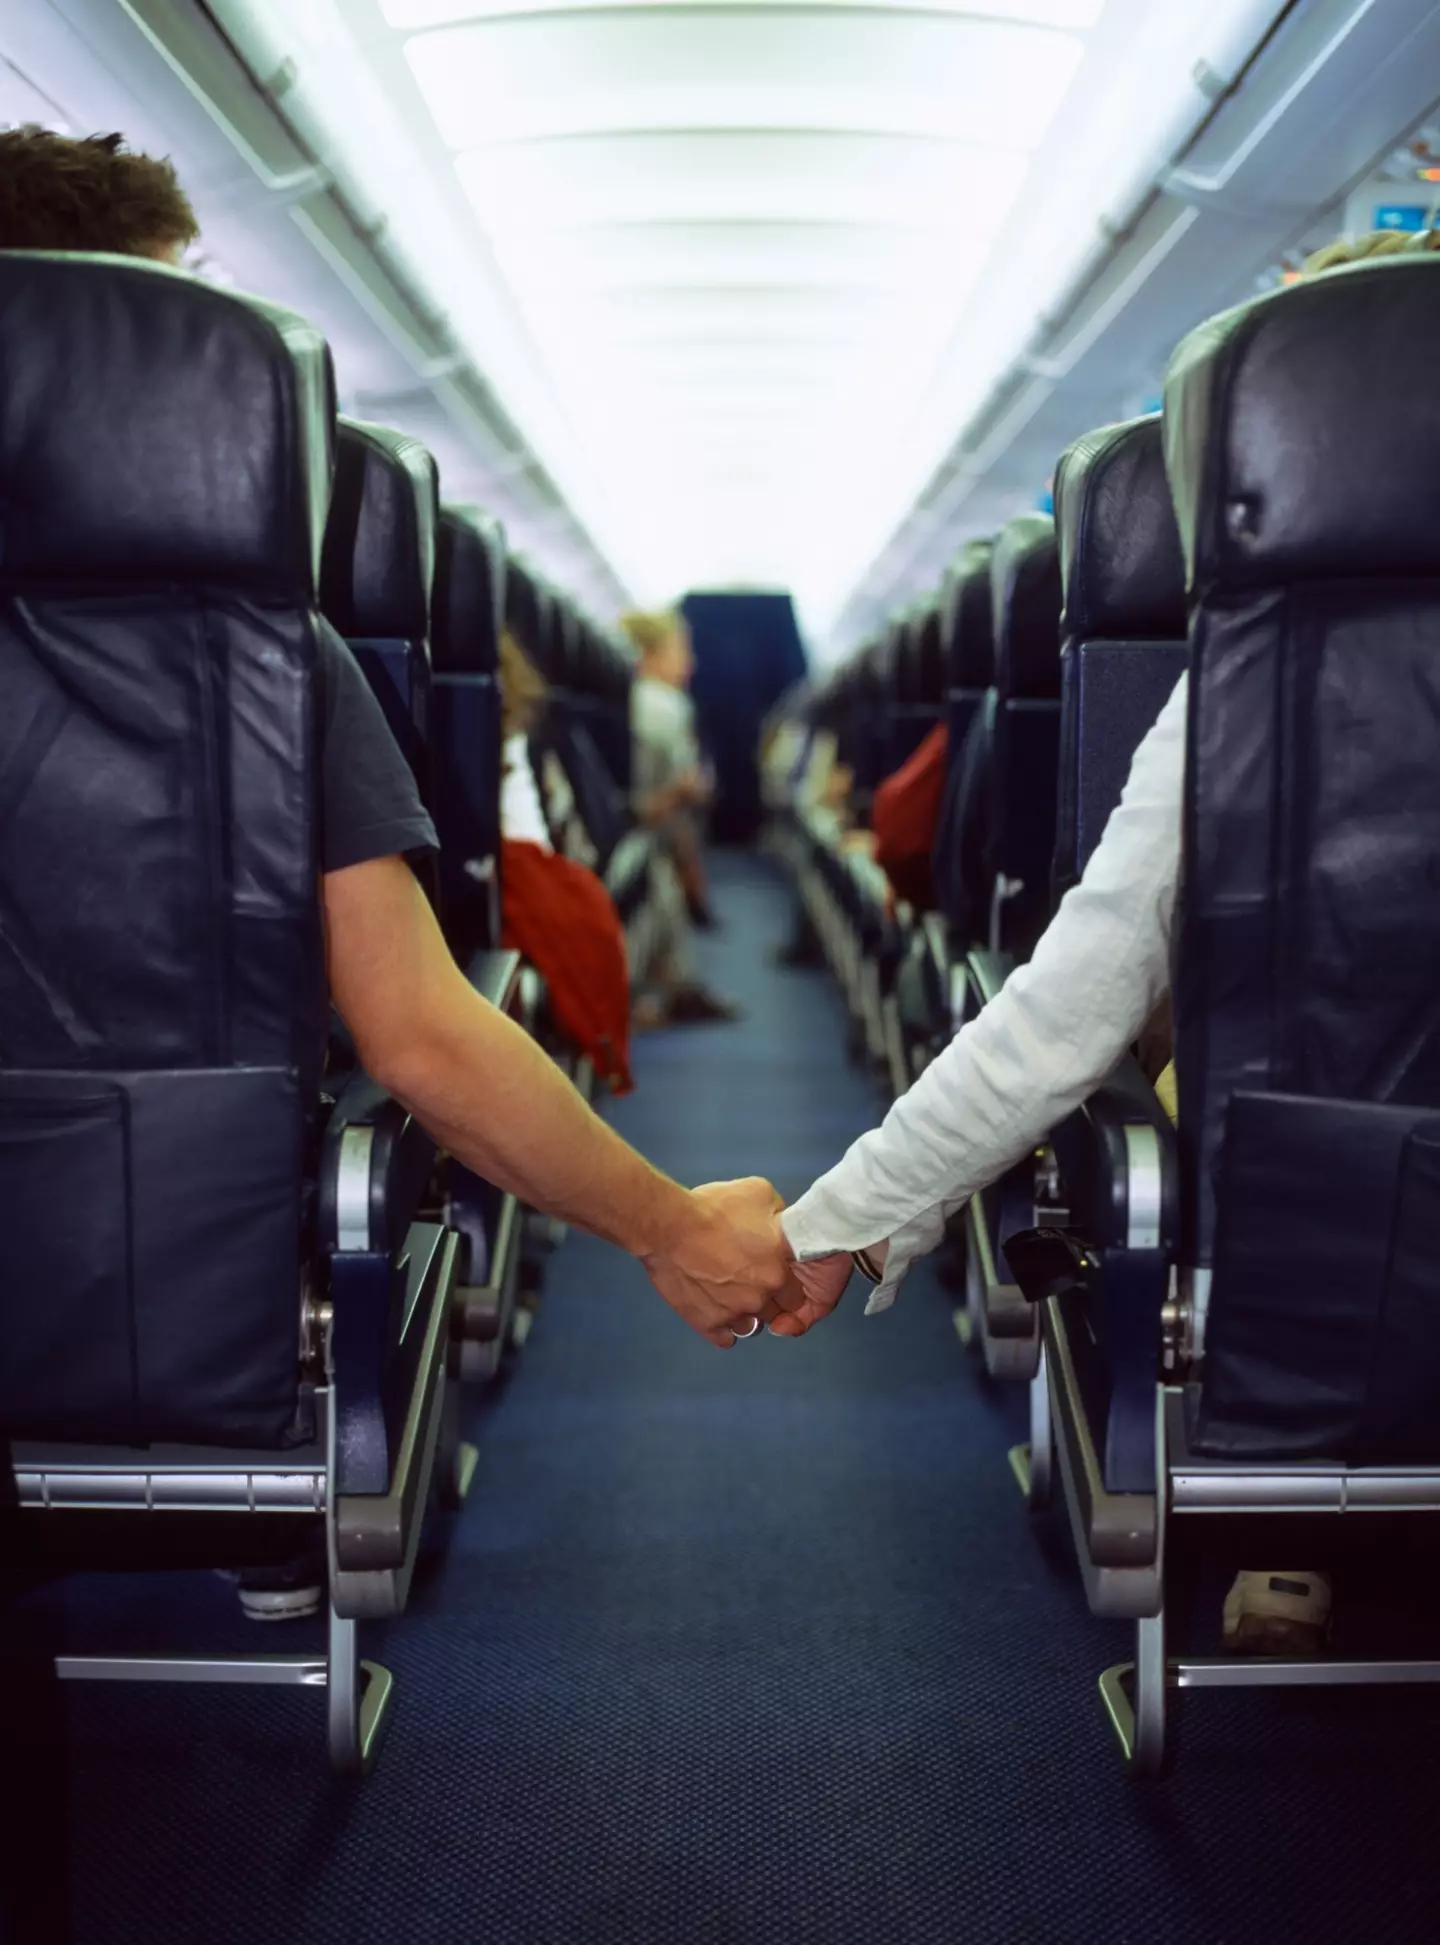
<svg viewBox="0 0 1440 1945"><path fill-rule="evenodd" d="M496 521L444 506L430 603L440 908L451 949L500 943L500 628L506 548Z"/></svg>

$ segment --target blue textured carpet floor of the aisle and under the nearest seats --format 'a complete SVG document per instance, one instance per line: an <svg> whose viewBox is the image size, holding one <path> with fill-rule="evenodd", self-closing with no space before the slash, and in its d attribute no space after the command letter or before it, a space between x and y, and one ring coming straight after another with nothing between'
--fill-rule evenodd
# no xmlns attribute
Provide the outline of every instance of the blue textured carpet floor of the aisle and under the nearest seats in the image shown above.
<svg viewBox="0 0 1440 1945"><path fill-rule="evenodd" d="M780 885L722 860L720 904L710 972L749 1019L642 1043L615 1122L685 1181L796 1194L876 1099L823 978L765 959ZM1059 1525L1029 1527L1018 1430L928 1272L885 1319L852 1293L802 1344L722 1356L572 1237L477 1414L471 1505L372 1645L397 1675L374 1778L329 1784L315 1696L70 1690L47 1749L6 1764L29 1935L1434 1937L1436 1702L1199 1698L1175 1778L1129 1784L1094 1692L1123 1638L1086 1614ZM60 1603L76 1647L235 1634L208 1579L27 1612Z"/></svg>

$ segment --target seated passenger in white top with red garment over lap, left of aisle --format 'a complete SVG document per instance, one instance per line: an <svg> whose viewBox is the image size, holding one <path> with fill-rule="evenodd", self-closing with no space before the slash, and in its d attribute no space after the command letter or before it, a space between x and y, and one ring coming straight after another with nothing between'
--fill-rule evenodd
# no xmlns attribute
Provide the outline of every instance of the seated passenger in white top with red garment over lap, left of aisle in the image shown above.
<svg viewBox="0 0 1440 1945"><path fill-rule="evenodd" d="M531 766L529 729L545 677L506 628L500 636L500 918L504 943L545 980L555 1023L613 1093L629 1093L630 972L611 895L574 858L557 856Z"/></svg>

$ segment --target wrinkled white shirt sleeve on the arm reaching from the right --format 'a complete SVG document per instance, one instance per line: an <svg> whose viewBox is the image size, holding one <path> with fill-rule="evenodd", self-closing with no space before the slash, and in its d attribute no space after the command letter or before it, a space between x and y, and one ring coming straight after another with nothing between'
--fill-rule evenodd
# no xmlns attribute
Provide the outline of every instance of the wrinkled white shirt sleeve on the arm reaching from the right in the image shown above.
<svg viewBox="0 0 1440 1945"><path fill-rule="evenodd" d="M1136 749L1086 873L1033 959L780 1218L802 1262L889 1239L870 1311L895 1301L950 1216L1096 1091L1168 990L1187 687L1181 677Z"/></svg>

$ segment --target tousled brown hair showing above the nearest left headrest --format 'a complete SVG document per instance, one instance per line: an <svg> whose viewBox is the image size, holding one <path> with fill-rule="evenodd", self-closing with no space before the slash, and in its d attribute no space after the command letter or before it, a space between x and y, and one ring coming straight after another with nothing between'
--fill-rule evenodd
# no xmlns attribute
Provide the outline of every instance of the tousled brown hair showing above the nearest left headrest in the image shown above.
<svg viewBox="0 0 1440 1945"><path fill-rule="evenodd" d="M0 249L160 257L198 231L173 165L132 154L125 136L0 128Z"/></svg>

